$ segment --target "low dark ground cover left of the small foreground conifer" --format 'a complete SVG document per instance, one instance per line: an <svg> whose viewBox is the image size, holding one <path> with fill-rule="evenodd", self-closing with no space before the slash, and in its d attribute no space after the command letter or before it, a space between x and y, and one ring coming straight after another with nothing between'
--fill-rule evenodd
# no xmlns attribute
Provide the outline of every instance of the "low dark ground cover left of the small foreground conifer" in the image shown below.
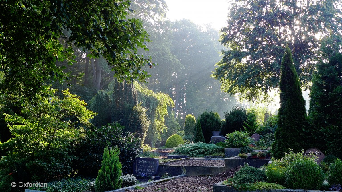
<svg viewBox="0 0 342 192"><path fill-rule="evenodd" d="M47 187L30 187L29 189L46 192L83 192L92 190L92 183L94 183L94 180L68 178L60 181L48 182Z"/></svg>

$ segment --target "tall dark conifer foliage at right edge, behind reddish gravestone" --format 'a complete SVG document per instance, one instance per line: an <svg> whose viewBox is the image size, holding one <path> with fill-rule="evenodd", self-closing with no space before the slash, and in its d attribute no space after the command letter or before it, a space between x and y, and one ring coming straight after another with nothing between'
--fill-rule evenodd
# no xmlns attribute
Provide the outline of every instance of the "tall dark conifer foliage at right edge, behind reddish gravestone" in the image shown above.
<svg viewBox="0 0 342 192"><path fill-rule="evenodd" d="M305 128L308 147L322 147L328 154L342 158L342 54L329 62L321 61L312 80L309 120ZM319 135L319 136L318 136Z"/></svg>

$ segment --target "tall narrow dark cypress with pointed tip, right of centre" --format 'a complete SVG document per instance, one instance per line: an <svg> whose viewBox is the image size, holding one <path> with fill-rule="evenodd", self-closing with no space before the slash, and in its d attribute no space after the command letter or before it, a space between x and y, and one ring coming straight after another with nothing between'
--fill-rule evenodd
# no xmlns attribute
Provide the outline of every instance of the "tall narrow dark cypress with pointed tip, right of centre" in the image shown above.
<svg viewBox="0 0 342 192"><path fill-rule="evenodd" d="M306 126L305 100L289 47L286 47L280 70L278 128L275 132L276 140L272 145L272 153L278 159L283 157L289 148L294 152L303 149L302 128Z"/></svg>

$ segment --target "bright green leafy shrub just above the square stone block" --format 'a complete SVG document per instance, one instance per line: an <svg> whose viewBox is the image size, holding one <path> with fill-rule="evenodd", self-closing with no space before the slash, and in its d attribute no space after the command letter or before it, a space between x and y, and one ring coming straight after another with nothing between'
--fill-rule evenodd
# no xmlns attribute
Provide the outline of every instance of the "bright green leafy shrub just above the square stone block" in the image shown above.
<svg viewBox="0 0 342 192"><path fill-rule="evenodd" d="M234 131L233 133L226 134L227 139L225 140L229 148L240 148L246 147L252 139L248 133L241 131Z"/></svg>

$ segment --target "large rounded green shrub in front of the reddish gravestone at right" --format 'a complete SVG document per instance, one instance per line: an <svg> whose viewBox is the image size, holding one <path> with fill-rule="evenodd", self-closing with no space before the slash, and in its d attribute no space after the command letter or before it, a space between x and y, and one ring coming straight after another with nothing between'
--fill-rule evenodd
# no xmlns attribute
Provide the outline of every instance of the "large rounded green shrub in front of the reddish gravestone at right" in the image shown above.
<svg viewBox="0 0 342 192"><path fill-rule="evenodd" d="M319 190L323 181L322 168L311 159L297 159L285 172L285 184L290 189Z"/></svg>

